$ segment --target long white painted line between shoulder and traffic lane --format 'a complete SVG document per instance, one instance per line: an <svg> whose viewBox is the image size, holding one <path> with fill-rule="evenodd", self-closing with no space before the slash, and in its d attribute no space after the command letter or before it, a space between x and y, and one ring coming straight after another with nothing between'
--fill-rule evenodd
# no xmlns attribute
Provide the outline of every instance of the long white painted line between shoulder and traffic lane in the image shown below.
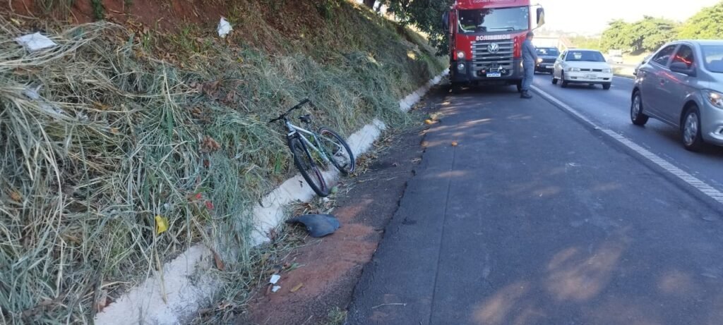
<svg viewBox="0 0 723 325"><path fill-rule="evenodd" d="M562 101L558 100L557 98L553 97L552 95L549 95L547 92L544 92L543 90L539 89L539 87L537 87L535 85L533 85L531 87L532 87L532 90L534 90L538 94L542 95L543 97L547 98L547 100L550 100L553 103L557 104L560 108L567 110L568 113L573 114L574 116L580 118L582 121L585 121L585 123L588 123L590 126L594 127L594 129L602 131L604 134L607 134L612 139L615 139L615 140L617 140L617 142L620 142L621 144L625 145L625 147L628 147L628 148L632 149L633 151L638 152L638 154L645 157L647 160L650 160L654 164L659 165L660 168L663 168L668 173L675 175L677 178L680 178L680 180L684 181L685 183L688 183L688 185L693 186L693 188L696 188L698 191L701 191L701 193L705 194L706 196L709 196L711 199L714 199L716 202L723 204L723 192L717 190L713 186L710 186L708 183L701 181L696 176L690 175L690 173L685 172L685 170L677 168L677 166L673 165L672 163L668 162L667 160L664 160L663 158L654 154L653 152L650 152L650 150L641 147L640 145L638 145L635 142L631 141L630 139L626 138L622 134L618 134L615 131L612 131L610 129L604 129L604 128L598 126L595 122L591 121L586 116L583 116L583 114L579 113L576 109L570 107L570 105L562 103Z"/></svg>

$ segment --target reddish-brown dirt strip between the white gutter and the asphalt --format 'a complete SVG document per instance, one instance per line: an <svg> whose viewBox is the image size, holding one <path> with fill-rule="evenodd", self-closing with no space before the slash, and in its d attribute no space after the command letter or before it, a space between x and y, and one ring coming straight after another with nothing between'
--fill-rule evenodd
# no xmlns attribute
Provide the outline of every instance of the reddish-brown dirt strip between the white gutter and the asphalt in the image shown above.
<svg viewBox="0 0 723 325"><path fill-rule="evenodd" d="M431 91L445 90L442 86ZM433 100L419 103L416 112L423 114L417 114L418 118L437 108ZM293 260L287 262L303 267L281 274L278 284L282 289L277 293L268 292L266 286L257 288L249 302L251 316L239 319L238 324L325 324L329 311L346 310L364 264L372 259L406 183L421 161L426 129L416 126L377 143L385 149L372 154L377 157L369 169L347 179L350 186L342 187L335 198L337 207L332 214L338 217L341 228L321 241L308 238L309 243L317 244L296 249L290 255Z"/></svg>

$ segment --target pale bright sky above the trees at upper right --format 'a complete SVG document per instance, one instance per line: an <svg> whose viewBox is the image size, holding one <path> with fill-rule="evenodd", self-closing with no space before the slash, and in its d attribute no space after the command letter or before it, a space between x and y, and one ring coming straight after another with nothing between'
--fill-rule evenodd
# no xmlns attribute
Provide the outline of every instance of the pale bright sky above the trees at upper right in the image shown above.
<svg viewBox="0 0 723 325"><path fill-rule="evenodd" d="M539 0L539 4L544 7L547 30L593 34L602 32L610 20L623 19L633 22L643 18L643 15L685 21L703 7L712 6L719 1L721 0Z"/></svg>

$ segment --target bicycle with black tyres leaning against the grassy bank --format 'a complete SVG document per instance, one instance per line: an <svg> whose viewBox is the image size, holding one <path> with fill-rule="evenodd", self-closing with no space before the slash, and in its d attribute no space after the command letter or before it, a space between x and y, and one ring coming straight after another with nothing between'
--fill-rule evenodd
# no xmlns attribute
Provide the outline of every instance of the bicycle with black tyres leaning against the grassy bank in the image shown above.
<svg viewBox="0 0 723 325"><path fill-rule="evenodd" d="M349 149L346 141L332 129L320 127L319 131L309 131L307 129L295 126L289 121L288 115L294 110L301 108L306 104L314 107L314 103L309 99L301 100L294 107L281 114L277 118L270 120L268 123L275 121L283 121L286 126L286 144L291 149L291 155L294 157L294 165L301 173L304 180L307 181L309 187L321 197L329 196L330 188L328 188L324 175L319 170L318 165L331 164L342 175L354 173L355 161L354 153ZM310 115L299 116L299 120L306 124L307 128L312 121ZM310 128L309 128L310 129ZM322 162L322 164L319 164Z"/></svg>

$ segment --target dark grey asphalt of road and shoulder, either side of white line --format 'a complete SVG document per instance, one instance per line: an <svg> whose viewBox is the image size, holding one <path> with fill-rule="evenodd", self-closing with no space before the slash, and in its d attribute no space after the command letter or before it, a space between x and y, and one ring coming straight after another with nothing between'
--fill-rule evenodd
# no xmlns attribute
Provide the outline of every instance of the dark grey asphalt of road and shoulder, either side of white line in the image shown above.
<svg viewBox="0 0 723 325"><path fill-rule="evenodd" d="M623 130L626 108L604 103L624 103L624 87L549 91ZM347 324L723 324L721 206L540 96L429 100L442 122ZM656 123L623 131L678 147Z"/></svg>

